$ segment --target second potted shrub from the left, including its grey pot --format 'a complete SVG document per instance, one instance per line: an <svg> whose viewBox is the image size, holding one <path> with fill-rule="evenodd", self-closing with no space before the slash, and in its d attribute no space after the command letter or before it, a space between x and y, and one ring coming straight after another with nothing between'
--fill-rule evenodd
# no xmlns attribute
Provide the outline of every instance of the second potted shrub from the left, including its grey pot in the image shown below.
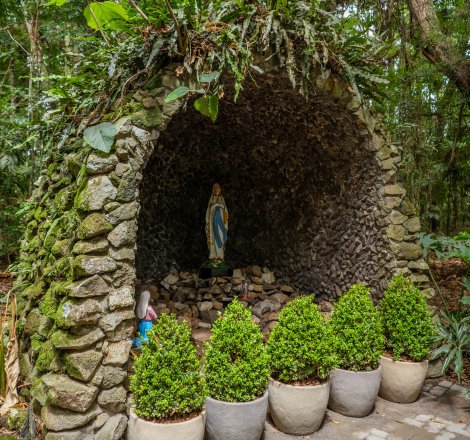
<svg viewBox="0 0 470 440"><path fill-rule="evenodd" d="M237 298L206 343L204 374L208 440L259 440L268 409L268 356L251 308Z"/></svg>

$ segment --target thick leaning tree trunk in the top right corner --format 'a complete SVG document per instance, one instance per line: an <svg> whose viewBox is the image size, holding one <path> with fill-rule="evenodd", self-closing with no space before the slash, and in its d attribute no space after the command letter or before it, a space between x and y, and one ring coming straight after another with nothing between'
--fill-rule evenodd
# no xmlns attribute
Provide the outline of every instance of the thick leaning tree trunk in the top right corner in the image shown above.
<svg viewBox="0 0 470 440"><path fill-rule="evenodd" d="M420 49L470 99L470 61L442 32L431 0L408 0L415 26L419 31Z"/></svg>

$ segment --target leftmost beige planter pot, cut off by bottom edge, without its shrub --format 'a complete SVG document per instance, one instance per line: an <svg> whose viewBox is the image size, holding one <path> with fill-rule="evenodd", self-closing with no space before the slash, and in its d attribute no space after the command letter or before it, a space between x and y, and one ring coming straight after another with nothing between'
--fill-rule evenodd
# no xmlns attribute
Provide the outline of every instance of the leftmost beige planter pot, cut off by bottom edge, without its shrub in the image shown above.
<svg viewBox="0 0 470 440"><path fill-rule="evenodd" d="M177 423L154 423L141 419L132 408L127 424L127 440L203 440L205 412Z"/></svg>

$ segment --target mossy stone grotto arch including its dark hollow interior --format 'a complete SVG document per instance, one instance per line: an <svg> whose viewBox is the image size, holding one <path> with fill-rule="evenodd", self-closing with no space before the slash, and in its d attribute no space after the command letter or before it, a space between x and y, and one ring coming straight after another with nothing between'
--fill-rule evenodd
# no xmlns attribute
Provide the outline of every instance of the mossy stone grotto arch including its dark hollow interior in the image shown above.
<svg viewBox="0 0 470 440"><path fill-rule="evenodd" d="M58 146L37 182L20 259L34 267L17 282L18 337L21 375L32 383L27 397L48 439L124 432L136 264L139 276L153 276L152 247L161 271L176 258L188 266L205 258L201 224L193 226L192 217L202 221L214 177L227 195L228 252L238 264L267 261L325 298L358 281L356 271L377 295L392 273L427 281L419 221L396 174L399 153L342 79L318 74L309 101L279 71L247 84L237 104L227 86L212 125L191 102L186 110L184 100L165 102L181 83L177 67L162 70L152 82L158 86L128 94L129 112L114 123L109 153L85 152L77 136ZM208 137L218 158L205 171ZM188 142L197 147L191 155ZM184 196L175 196L179 188ZM153 209L162 214L156 229ZM189 238L175 241L174 255L162 250L174 239L165 209L173 218L184 214L174 222L180 229L192 226ZM193 251L183 255L187 246Z"/></svg>

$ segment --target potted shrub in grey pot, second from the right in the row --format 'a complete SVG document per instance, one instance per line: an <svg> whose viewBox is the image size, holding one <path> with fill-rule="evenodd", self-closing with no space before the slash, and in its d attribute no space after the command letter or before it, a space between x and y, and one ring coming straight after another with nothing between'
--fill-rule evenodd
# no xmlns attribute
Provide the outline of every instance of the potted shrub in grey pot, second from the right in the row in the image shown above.
<svg viewBox="0 0 470 440"><path fill-rule="evenodd" d="M380 315L369 289L352 285L335 304L329 325L339 368L331 375L328 406L345 416L364 417L377 399L384 346Z"/></svg>

